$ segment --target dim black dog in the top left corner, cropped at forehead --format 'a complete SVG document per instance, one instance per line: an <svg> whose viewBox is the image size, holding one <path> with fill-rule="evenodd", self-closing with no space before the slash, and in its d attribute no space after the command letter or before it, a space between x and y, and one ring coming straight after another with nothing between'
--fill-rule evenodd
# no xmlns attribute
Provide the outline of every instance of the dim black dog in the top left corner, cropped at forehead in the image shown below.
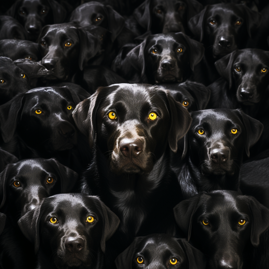
<svg viewBox="0 0 269 269"><path fill-rule="evenodd" d="M17 0L7 15L24 26L27 39L36 41L43 26L64 21L66 10L54 0Z"/></svg>

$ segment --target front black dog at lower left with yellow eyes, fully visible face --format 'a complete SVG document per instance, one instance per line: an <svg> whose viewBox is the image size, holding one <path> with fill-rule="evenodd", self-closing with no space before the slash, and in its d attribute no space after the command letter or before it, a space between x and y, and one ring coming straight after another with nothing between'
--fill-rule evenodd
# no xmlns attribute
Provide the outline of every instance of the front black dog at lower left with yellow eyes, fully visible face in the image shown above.
<svg viewBox="0 0 269 269"><path fill-rule="evenodd" d="M99 269L119 218L98 197L69 193L45 198L18 223L34 242L38 268Z"/></svg>

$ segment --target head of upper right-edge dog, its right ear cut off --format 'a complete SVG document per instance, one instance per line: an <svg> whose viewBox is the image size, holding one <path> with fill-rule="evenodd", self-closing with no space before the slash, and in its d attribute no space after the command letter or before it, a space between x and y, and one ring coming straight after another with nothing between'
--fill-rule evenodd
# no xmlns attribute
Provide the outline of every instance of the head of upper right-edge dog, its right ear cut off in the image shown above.
<svg viewBox="0 0 269 269"><path fill-rule="evenodd" d="M215 62L222 77L236 90L236 99L244 105L259 103L269 83L269 54L261 49L242 49Z"/></svg>

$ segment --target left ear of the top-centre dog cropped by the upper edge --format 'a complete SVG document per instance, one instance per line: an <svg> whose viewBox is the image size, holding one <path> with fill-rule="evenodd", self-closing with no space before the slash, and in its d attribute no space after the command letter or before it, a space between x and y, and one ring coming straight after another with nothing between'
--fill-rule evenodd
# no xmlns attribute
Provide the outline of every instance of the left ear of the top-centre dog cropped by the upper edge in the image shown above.
<svg viewBox="0 0 269 269"><path fill-rule="evenodd" d="M151 13L150 13L150 0L144 1L138 8L133 12L134 18L137 22L147 31L151 27Z"/></svg>

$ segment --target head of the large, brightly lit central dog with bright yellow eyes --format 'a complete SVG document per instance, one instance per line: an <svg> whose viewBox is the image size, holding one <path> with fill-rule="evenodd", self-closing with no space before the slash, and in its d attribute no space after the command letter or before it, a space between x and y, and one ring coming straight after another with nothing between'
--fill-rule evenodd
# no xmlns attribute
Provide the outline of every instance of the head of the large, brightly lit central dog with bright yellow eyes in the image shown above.
<svg viewBox="0 0 269 269"><path fill-rule="evenodd" d="M109 156L117 174L148 173L167 143L173 151L187 132L187 109L167 92L148 84L100 87L73 113L79 130ZM107 154L109 153L109 154Z"/></svg>

